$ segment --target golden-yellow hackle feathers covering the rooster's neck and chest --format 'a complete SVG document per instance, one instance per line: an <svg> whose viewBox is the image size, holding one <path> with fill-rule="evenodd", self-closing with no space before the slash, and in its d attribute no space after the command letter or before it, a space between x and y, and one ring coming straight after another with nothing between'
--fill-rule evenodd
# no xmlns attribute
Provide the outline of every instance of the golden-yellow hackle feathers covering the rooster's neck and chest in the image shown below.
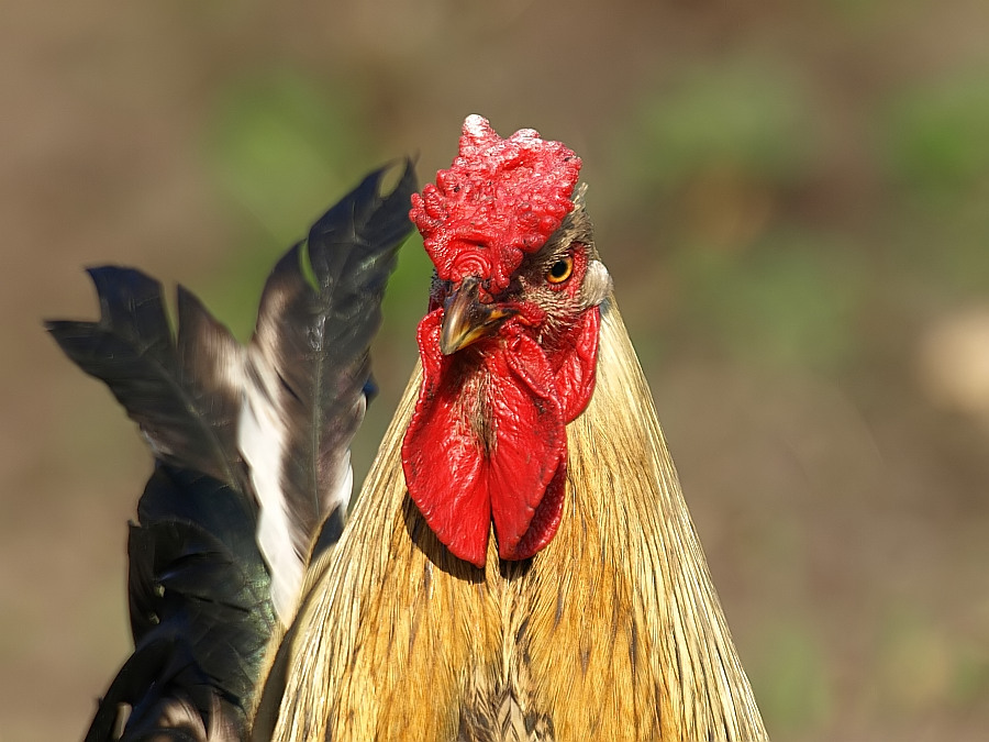
<svg viewBox="0 0 989 742"><path fill-rule="evenodd" d="M552 543L510 563L492 539L478 569L436 541L400 463L416 372L255 739L766 739L613 298L601 311Z"/></svg>

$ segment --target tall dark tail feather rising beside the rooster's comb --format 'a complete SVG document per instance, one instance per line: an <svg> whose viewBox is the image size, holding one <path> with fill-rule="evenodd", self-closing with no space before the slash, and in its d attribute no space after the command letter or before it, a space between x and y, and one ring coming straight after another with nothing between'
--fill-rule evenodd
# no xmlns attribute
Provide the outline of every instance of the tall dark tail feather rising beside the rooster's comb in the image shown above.
<svg viewBox="0 0 989 742"><path fill-rule="evenodd" d="M409 202L418 188L405 162L398 186L382 195L388 169L371 173L316 221L308 240L278 262L262 295L248 353L255 394L248 397L252 405L269 406L279 424L259 425L274 442L242 435L241 446L255 470L262 466L252 456L257 446L281 450L277 486L254 479L263 518L266 508L280 518L280 509L293 527L289 544L273 544L263 523L269 557L291 550L304 562L315 529L346 509L347 452L364 419L366 389L374 386L368 347L398 248L411 231Z"/></svg>

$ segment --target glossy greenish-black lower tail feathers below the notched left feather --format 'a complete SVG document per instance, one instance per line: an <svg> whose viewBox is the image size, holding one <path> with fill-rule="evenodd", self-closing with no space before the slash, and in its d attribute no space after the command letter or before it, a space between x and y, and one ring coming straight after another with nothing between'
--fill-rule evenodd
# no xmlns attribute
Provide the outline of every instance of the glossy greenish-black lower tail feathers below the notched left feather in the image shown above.
<svg viewBox="0 0 989 742"><path fill-rule="evenodd" d="M121 705L132 709L126 740L163 730L202 742L243 739L276 625L254 509L212 477L160 464L137 512L127 545L134 654L86 742L115 739Z"/></svg>

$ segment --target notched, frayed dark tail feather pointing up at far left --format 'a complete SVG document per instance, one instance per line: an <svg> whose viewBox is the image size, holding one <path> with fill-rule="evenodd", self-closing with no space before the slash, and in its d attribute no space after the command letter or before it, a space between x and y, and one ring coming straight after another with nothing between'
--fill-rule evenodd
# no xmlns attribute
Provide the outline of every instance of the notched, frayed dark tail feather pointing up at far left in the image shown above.
<svg viewBox="0 0 989 742"><path fill-rule="evenodd" d="M48 331L82 370L110 387L158 458L244 489L234 425L243 348L181 288L173 339L158 281L115 266L88 273L99 322L49 321Z"/></svg>

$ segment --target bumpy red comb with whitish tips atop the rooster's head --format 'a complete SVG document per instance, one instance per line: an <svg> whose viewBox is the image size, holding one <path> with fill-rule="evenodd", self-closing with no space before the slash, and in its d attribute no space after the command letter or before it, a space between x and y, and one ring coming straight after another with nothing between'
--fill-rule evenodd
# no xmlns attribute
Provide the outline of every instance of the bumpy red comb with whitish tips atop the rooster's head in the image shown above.
<svg viewBox="0 0 989 742"><path fill-rule="evenodd" d="M580 158L532 129L501 139L487 119L467 117L460 153L436 174L409 217L440 278L480 275L508 288L524 253L546 242L574 209Z"/></svg>

